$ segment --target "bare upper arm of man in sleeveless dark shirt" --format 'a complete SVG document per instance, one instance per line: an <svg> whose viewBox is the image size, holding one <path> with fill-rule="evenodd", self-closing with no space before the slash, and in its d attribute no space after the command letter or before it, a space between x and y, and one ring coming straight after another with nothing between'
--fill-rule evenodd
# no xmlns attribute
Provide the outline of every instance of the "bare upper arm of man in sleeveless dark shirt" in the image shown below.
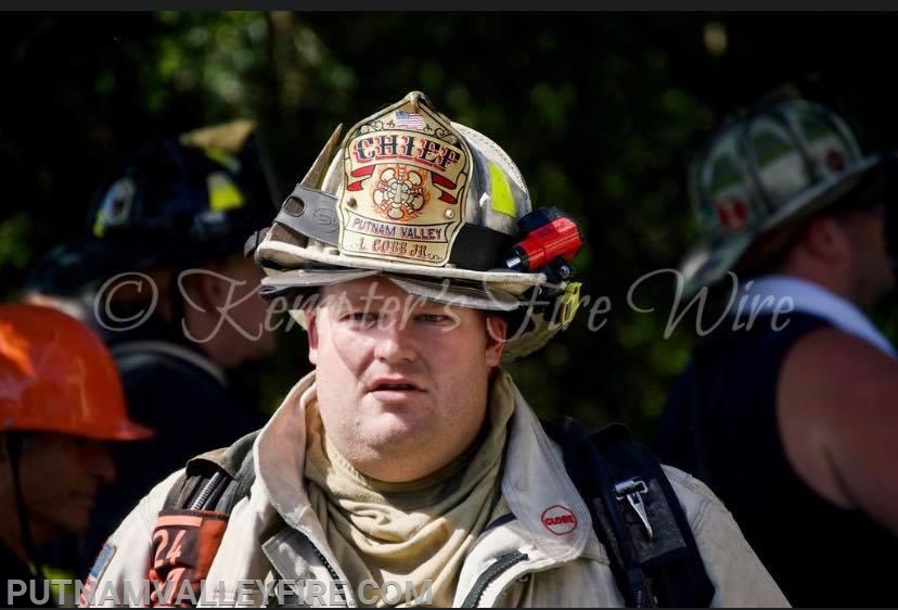
<svg viewBox="0 0 898 610"><path fill-rule="evenodd" d="M777 415L786 456L812 490L845 508L885 509L873 487L896 487L896 360L838 329L816 330L783 361Z"/></svg>

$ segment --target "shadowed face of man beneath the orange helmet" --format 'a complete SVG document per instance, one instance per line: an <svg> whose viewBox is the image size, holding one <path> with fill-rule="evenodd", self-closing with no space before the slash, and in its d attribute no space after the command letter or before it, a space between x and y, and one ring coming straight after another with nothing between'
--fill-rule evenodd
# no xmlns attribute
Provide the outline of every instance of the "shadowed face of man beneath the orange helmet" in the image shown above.
<svg viewBox="0 0 898 610"><path fill-rule="evenodd" d="M115 479L105 443L50 433L26 436L20 472L37 539L84 533L100 485Z"/></svg>

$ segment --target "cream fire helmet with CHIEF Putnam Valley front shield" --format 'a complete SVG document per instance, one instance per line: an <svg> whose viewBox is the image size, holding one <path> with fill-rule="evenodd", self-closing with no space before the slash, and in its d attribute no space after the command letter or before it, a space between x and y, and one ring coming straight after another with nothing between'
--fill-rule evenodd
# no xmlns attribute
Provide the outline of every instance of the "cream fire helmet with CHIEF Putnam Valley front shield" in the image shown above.
<svg viewBox="0 0 898 610"><path fill-rule="evenodd" d="M569 267L505 263L531 206L521 173L492 140L452 123L419 91L338 143L339 132L255 250L268 275L264 295L381 275L435 302L506 313L503 361L570 322L580 284L568 281ZM302 307L291 314L304 323Z"/></svg>

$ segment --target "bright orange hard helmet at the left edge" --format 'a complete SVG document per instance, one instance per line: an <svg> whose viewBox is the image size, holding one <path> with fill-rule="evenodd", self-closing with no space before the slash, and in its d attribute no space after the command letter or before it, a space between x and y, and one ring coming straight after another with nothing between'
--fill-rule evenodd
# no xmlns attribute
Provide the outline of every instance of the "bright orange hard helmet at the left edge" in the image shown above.
<svg viewBox="0 0 898 610"><path fill-rule="evenodd" d="M93 331L31 304L0 305L0 432L5 431L103 441L154 434L128 419L115 364Z"/></svg>

